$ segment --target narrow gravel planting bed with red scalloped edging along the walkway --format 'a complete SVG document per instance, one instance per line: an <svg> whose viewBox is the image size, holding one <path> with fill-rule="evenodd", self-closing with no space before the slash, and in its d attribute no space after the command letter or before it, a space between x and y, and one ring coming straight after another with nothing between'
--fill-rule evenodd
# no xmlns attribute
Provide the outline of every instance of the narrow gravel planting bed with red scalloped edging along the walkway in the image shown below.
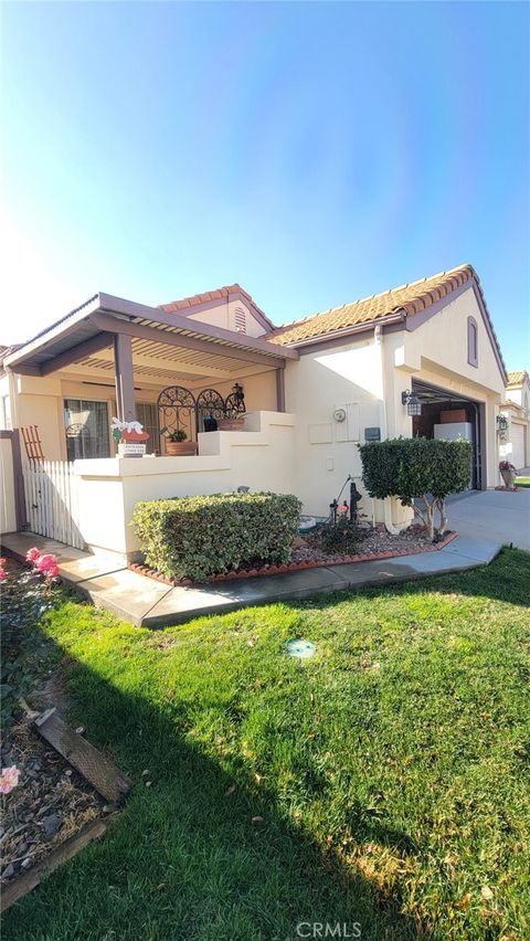
<svg viewBox="0 0 530 941"><path fill-rule="evenodd" d="M386 531L381 524L373 529L367 530L362 540L362 552L354 556L332 556L322 552L316 546L311 546L310 537L308 539L298 539L296 548L293 550L289 562L278 565L261 565L254 569L237 569L232 572L222 572L215 575L209 575L208 582L224 582L233 579L252 579L262 575L277 575L286 572L299 572L304 569L316 569L325 565L344 565L354 562L373 562L380 559L394 559L400 556L415 556L418 552L436 552L443 549L453 539L456 539L457 532L446 532L445 537L436 543L433 543L424 526L411 526L409 529L400 532L398 536L392 536ZM197 584L192 579L174 579L150 569L140 562L130 562L129 569L140 575L147 575L149 579L162 582L173 588L187 588Z"/></svg>

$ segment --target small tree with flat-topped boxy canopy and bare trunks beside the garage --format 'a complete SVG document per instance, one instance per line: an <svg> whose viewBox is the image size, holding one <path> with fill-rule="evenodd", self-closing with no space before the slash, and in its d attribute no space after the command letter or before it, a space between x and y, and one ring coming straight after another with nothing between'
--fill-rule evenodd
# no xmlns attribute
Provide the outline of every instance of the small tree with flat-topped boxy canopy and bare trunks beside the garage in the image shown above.
<svg viewBox="0 0 530 941"><path fill-rule="evenodd" d="M370 496L396 497L403 506L414 506L431 539L441 539L447 528L446 497L465 490L471 479L470 442L398 437L360 444L359 451ZM415 499L422 499L425 508L413 504Z"/></svg>

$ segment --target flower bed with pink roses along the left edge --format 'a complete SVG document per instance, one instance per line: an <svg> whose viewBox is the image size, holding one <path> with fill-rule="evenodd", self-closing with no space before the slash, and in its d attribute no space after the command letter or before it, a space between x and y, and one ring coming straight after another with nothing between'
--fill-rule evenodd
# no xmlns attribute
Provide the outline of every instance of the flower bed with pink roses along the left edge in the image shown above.
<svg viewBox="0 0 530 941"><path fill-rule="evenodd" d="M33 729L39 711L59 705L56 652L39 628L64 601L54 556L28 553L28 565L2 559L2 736L0 792L2 886L104 813L104 800ZM32 567L30 569L30 565ZM36 707L32 711L29 702Z"/></svg>

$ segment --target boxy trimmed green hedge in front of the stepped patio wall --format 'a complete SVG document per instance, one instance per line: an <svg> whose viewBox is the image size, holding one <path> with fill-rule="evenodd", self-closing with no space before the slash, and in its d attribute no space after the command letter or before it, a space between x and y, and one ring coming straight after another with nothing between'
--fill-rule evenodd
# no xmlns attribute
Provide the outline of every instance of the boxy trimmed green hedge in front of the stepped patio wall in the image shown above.
<svg viewBox="0 0 530 941"><path fill-rule="evenodd" d="M132 525L146 562L170 578L286 562L301 504L285 494L214 494L136 505Z"/></svg>

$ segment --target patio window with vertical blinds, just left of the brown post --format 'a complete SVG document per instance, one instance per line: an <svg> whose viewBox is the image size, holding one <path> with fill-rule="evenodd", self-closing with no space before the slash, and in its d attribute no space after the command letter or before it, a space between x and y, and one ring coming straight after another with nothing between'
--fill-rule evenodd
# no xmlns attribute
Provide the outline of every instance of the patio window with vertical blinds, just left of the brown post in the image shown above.
<svg viewBox="0 0 530 941"><path fill-rule="evenodd" d="M110 457L108 410L106 402L66 399L64 402L66 456Z"/></svg>

